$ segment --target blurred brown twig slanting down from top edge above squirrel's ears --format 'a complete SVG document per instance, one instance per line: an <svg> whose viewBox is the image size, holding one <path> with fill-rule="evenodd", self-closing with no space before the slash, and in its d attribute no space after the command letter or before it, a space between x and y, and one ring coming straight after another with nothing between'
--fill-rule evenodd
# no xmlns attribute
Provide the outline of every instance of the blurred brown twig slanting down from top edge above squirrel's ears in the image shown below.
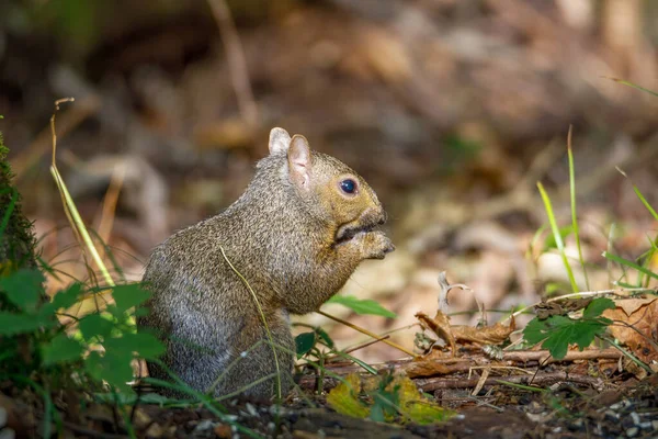
<svg viewBox="0 0 658 439"><path fill-rule="evenodd" d="M208 4L219 27L222 43L226 50L230 80L238 99L240 113L247 125L250 128L254 128L258 125L258 106L256 105L251 85L249 83L245 50L242 49L238 31L230 15L230 9L228 9L226 0L208 0Z"/></svg>

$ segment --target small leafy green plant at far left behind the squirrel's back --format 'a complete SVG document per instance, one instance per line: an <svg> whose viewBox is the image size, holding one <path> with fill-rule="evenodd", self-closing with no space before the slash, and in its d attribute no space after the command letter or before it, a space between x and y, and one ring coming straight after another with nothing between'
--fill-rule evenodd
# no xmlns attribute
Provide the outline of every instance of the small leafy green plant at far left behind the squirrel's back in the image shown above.
<svg viewBox="0 0 658 439"><path fill-rule="evenodd" d="M87 376L98 384L107 383L121 392L132 392L127 384L133 380L132 361L136 358L157 358L162 344L150 334L135 333L133 308L138 307L148 293L138 284L113 289L114 304L81 318L66 314L86 295L102 290L73 283L42 301L44 277L39 270L24 269L0 278L2 300L12 304L13 311L0 312L0 336L29 336L36 349L34 358L4 359L0 375L5 379L19 371L49 372L81 367ZM59 317L68 318L61 324ZM66 372L61 374L66 375Z"/></svg>

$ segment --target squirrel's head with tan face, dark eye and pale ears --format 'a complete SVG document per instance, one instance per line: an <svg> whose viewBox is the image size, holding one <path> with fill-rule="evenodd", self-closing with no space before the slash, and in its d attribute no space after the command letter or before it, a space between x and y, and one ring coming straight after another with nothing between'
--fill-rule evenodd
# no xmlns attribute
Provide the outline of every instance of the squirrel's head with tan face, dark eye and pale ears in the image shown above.
<svg viewBox="0 0 658 439"><path fill-rule="evenodd" d="M285 155L282 177L311 215L334 228L337 243L386 222L382 203L365 180L342 161L311 151L306 137L291 138L285 130L273 128L270 155Z"/></svg>

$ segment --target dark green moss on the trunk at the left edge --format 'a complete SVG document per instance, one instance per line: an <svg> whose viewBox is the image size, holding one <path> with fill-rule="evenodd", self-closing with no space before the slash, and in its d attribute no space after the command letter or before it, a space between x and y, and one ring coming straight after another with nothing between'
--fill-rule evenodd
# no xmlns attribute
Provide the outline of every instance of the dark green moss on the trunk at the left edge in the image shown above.
<svg viewBox="0 0 658 439"><path fill-rule="evenodd" d="M21 211L21 195L12 183L8 154L0 133L0 268L36 267L32 223Z"/></svg>

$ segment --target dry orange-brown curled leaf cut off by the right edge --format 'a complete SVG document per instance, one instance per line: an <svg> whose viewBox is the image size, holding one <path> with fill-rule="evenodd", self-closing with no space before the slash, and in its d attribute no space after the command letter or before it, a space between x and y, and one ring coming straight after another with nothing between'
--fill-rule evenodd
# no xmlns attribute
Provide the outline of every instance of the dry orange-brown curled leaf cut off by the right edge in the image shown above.
<svg viewBox="0 0 658 439"><path fill-rule="evenodd" d="M658 361L658 297L622 299L615 305L602 314L614 322L612 336L642 361Z"/></svg>

